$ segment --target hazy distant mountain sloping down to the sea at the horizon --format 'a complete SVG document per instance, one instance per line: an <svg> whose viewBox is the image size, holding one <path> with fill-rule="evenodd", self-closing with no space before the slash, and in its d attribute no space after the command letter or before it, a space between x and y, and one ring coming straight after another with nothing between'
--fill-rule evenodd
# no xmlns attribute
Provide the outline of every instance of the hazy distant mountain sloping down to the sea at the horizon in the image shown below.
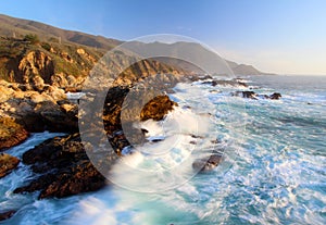
<svg viewBox="0 0 326 225"><path fill-rule="evenodd" d="M252 65L225 60L200 43L185 41L145 43L131 41L126 42L124 46L145 57L151 57L151 54L170 55L171 58L159 59L159 61L192 73L228 74L231 70L235 75L267 75L267 73L259 71ZM180 55L183 55L183 60L177 60ZM199 65L202 67L199 68Z"/></svg>

